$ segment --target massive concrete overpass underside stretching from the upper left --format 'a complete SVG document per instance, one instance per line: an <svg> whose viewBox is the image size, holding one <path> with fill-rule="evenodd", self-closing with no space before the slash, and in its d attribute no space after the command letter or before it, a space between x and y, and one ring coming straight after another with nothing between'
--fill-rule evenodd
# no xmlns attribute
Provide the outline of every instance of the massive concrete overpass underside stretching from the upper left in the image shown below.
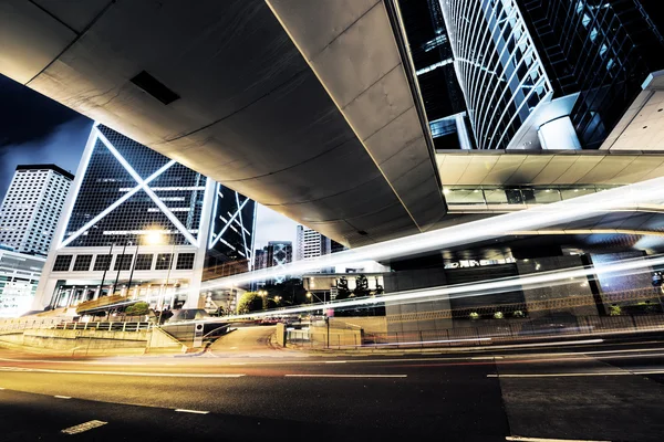
<svg viewBox="0 0 664 442"><path fill-rule="evenodd" d="M446 204L392 0L2 0L0 73L354 246Z"/></svg>

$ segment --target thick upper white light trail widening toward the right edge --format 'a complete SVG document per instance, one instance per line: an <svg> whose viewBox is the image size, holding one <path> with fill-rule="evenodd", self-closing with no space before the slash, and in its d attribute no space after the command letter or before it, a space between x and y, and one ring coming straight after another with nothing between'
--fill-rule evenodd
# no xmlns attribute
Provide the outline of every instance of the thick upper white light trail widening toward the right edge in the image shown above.
<svg viewBox="0 0 664 442"><path fill-rule="evenodd" d="M323 267L331 267L356 261L381 261L391 257L412 256L444 248L470 244L509 235L515 231L530 231L544 227L582 220L600 213L624 210L640 203L662 202L664 178L655 178L621 188L604 190L554 202L515 213L471 221L459 225L398 238L376 244L339 252L317 259L298 261L282 266L227 276L204 283L201 291L216 287L230 287L253 281L274 278L283 275L301 275ZM181 293L185 293L183 291Z"/></svg>

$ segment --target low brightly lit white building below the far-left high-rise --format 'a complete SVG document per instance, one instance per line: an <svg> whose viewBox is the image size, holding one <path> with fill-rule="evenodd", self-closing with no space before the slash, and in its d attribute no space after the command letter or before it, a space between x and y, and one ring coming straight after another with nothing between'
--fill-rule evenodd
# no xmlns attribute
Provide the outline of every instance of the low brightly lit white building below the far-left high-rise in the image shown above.
<svg viewBox="0 0 664 442"><path fill-rule="evenodd" d="M30 311L45 260L0 248L0 318Z"/></svg>

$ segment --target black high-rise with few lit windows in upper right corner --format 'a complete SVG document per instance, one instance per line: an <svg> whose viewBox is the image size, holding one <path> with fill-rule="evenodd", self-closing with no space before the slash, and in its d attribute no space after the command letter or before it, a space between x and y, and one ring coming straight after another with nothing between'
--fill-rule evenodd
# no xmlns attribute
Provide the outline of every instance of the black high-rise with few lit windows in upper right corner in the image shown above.
<svg viewBox="0 0 664 442"><path fill-rule="evenodd" d="M583 148L604 141L650 73L664 69L662 8L643 0L520 0Z"/></svg>

